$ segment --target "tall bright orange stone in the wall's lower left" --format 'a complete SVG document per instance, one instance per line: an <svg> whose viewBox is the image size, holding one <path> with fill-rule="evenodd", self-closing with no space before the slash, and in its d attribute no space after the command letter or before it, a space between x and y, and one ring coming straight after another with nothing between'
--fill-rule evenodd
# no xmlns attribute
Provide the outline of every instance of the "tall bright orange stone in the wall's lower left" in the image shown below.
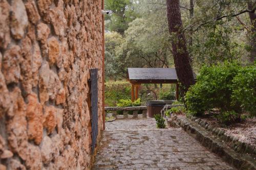
<svg viewBox="0 0 256 170"><path fill-rule="evenodd" d="M36 144L40 144L42 140L42 106L38 103L35 93L28 95L27 120L28 120L28 136L30 140L34 140Z"/></svg>

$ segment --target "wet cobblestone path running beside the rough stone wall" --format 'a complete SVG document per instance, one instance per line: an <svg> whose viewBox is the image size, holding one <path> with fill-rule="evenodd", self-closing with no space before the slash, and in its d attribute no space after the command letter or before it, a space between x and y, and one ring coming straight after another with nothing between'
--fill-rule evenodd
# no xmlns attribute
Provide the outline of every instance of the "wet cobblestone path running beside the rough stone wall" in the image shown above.
<svg viewBox="0 0 256 170"><path fill-rule="evenodd" d="M182 129L156 129L155 120L106 123L94 169L234 169Z"/></svg>

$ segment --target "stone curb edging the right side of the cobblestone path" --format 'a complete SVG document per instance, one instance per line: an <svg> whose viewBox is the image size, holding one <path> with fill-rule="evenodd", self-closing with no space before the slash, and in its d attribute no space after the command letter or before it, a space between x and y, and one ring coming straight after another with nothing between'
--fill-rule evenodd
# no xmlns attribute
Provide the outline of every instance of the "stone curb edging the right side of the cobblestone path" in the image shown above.
<svg viewBox="0 0 256 170"><path fill-rule="evenodd" d="M195 117L192 119L196 120ZM222 134L222 132L219 131L217 133L215 130L215 133L213 134L211 131L207 131L204 127L201 127L201 124L203 125L203 123L201 123L200 120L197 122L194 120L190 120L186 117L177 117L173 121L175 121L178 126L181 126L187 133L191 134L191 136L198 140L204 147L219 155L224 161L232 166L241 170L256 169L255 157L245 153L237 153L232 150L227 145L227 142L220 137L221 135L219 134ZM232 139L232 141L237 142L236 139Z"/></svg>

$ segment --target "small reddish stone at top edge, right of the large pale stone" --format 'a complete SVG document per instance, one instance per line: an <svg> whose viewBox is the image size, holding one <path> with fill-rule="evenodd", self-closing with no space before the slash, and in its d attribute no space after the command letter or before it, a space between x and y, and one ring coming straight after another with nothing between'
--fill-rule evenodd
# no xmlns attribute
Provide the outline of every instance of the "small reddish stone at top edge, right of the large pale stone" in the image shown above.
<svg viewBox="0 0 256 170"><path fill-rule="evenodd" d="M29 21L34 24L38 22L40 15L38 14L35 2L30 0L25 4L25 7L28 13Z"/></svg>

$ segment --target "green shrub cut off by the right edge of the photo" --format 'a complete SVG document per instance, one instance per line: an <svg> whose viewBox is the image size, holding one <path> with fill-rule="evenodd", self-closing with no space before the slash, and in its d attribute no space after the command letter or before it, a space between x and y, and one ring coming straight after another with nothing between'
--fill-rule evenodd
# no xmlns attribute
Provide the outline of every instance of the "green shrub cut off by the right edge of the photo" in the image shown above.
<svg viewBox="0 0 256 170"><path fill-rule="evenodd" d="M233 79L232 104L256 116L256 64L244 67Z"/></svg>

